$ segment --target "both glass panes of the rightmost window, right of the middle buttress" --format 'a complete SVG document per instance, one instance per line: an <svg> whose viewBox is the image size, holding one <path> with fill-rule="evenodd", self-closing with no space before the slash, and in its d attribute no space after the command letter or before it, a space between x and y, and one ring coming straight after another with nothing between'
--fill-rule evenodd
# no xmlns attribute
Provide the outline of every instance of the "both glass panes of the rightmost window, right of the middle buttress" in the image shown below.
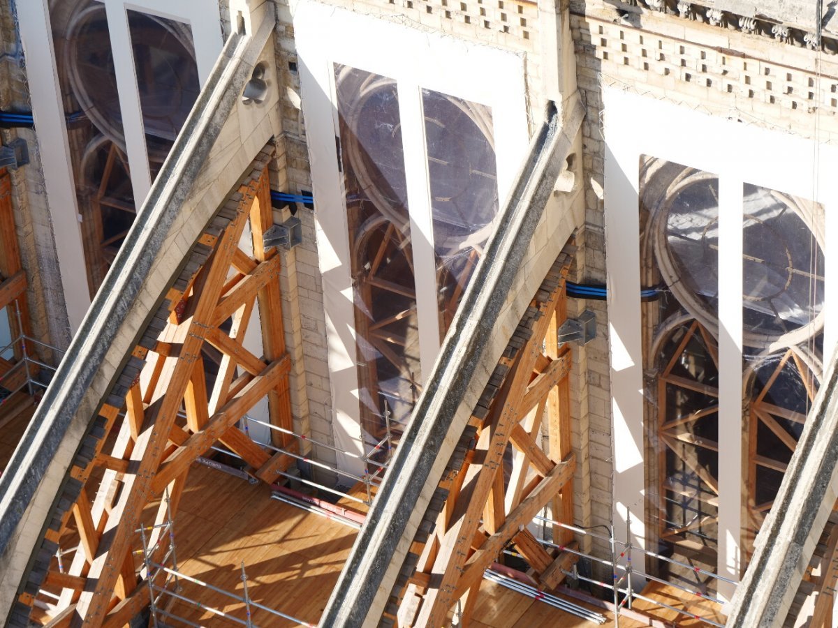
<svg viewBox="0 0 838 628"><path fill-rule="evenodd" d="M717 567L721 482L741 483L742 548L779 489L821 372L823 208L742 187L742 479L721 477L719 435L719 176L642 157L647 524L659 548ZM670 564L669 577L701 579ZM684 573L681 573L684 572ZM699 583L701 584L701 583Z"/></svg>

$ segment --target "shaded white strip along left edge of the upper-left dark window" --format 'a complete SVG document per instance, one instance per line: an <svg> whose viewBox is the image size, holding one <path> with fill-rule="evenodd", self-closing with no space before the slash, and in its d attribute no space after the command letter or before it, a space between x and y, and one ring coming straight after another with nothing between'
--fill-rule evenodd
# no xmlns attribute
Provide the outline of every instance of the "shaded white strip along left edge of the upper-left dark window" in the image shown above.
<svg viewBox="0 0 838 628"><path fill-rule="evenodd" d="M30 78L29 93L40 142L49 138L49 147L42 144L41 167L49 198L49 214L55 236L55 250L61 273L70 328L75 332L91 306L87 286L85 252L79 227L79 208L70 164L61 87L54 64L52 29L49 25L47 0L18 3L18 23L26 69ZM75 271L71 270L75 269Z"/></svg>

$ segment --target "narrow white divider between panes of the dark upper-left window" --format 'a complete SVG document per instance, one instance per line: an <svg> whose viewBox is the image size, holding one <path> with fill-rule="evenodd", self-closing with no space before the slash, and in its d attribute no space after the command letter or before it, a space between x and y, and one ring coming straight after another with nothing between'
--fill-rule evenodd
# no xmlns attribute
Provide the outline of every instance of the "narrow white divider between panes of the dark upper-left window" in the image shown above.
<svg viewBox="0 0 838 628"><path fill-rule="evenodd" d="M131 30L128 28L128 14L123 0L105 0L105 8L108 33L111 36L113 67L116 71L116 90L119 91L122 132L125 135L128 165L131 167L134 204L139 209L146 199L148 190L152 187L152 173L148 166L146 133L142 125Z"/></svg>

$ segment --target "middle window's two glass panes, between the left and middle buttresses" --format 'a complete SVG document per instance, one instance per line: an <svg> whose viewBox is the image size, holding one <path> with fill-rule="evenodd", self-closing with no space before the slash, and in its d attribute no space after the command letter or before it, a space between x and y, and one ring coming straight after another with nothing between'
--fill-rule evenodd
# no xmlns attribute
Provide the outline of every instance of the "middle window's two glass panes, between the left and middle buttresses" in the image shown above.
<svg viewBox="0 0 838 628"><path fill-rule="evenodd" d="M488 107L422 90L436 296L417 296L400 91L385 76L334 67L360 419L377 438L385 414L404 423L421 392L419 338L428 331L420 329L418 301L437 301L444 336L493 226L492 118Z"/></svg>

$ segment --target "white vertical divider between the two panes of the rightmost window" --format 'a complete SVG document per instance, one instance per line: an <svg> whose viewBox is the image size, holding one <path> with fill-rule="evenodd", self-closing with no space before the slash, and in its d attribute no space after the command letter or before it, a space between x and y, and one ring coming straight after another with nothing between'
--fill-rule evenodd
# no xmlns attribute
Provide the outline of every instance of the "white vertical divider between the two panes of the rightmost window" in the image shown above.
<svg viewBox="0 0 838 628"><path fill-rule="evenodd" d="M722 172L726 172L722 170ZM742 180L719 178L718 574L739 581L742 536ZM719 581L730 600L735 585Z"/></svg>

